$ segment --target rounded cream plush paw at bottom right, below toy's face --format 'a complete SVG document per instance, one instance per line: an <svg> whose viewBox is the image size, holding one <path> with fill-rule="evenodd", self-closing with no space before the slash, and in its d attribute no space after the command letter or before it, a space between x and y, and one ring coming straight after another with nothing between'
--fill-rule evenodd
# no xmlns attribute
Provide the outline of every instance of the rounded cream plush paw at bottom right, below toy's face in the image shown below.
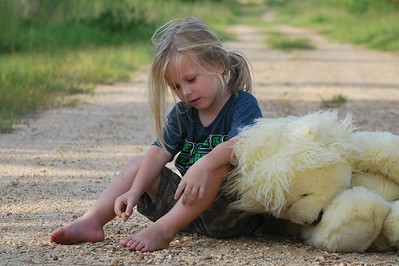
<svg viewBox="0 0 399 266"><path fill-rule="evenodd" d="M364 187L345 190L312 232L306 232L305 241L330 252L364 252L380 234L390 209L389 202Z"/></svg>

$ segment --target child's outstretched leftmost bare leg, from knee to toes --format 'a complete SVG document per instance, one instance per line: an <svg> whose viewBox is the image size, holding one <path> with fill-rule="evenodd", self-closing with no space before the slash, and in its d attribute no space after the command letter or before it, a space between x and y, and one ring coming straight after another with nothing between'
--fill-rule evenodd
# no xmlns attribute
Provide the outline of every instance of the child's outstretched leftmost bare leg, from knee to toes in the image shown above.
<svg viewBox="0 0 399 266"><path fill-rule="evenodd" d="M115 199L132 186L142 158L133 157L94 205L80 218L54 230L50 241L58 244L103 241L103 226L115 217Z"/></svg>

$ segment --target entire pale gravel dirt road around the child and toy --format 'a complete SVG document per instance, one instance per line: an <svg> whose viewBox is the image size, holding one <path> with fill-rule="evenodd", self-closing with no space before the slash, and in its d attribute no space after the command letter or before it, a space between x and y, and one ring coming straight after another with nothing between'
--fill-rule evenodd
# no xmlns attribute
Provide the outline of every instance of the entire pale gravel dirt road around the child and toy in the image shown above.
<svg viewBox="0 0 399 266"><path fill-rule="evenodd" d="M255 95L265 116L306 114L321 98L347 97L340 113L351 112L364 130L399 134L399 58L326 41L311 32L317 49L284 53L266 48L266 32L232 29L227 43L252 61ZM215 240L179 235L168 250L129 252L118 240L148 221L113 220L102 243L51 245L49 233L94 202L130 156L152 140L148 122L146 69L129 83L100 86L85 104L50 110L13 134L0 135L1 265L398 265L397 253L327 253L271 236L263 240Z"/></svg>

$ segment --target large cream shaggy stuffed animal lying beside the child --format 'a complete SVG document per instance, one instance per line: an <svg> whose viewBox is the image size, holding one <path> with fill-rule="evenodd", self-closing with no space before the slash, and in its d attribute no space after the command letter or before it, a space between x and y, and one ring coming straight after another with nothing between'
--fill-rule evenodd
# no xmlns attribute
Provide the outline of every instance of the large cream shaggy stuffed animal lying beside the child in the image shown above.
<svg viewBox="0 0 399 266"><path fill-rule="evenodd" d="M288 220L283 233L331 252L399 248L399 136L322 111L258 119L234 154L234 208Z"/></svg>

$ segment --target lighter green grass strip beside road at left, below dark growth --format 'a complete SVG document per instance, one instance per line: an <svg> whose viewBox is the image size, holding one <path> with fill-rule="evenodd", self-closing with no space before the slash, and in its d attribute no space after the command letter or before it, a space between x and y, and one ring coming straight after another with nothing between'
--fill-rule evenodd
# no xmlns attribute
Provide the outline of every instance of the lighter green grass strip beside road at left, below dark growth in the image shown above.
<svg viewBox="0 0 399 266"><path fill-rule="evenodd" d="M134 49L126 45L1 56L0 130L8 120L59 105L64 96L129 79L135 68L149 63L149 54L148 45L136 44Z"/></svg>

